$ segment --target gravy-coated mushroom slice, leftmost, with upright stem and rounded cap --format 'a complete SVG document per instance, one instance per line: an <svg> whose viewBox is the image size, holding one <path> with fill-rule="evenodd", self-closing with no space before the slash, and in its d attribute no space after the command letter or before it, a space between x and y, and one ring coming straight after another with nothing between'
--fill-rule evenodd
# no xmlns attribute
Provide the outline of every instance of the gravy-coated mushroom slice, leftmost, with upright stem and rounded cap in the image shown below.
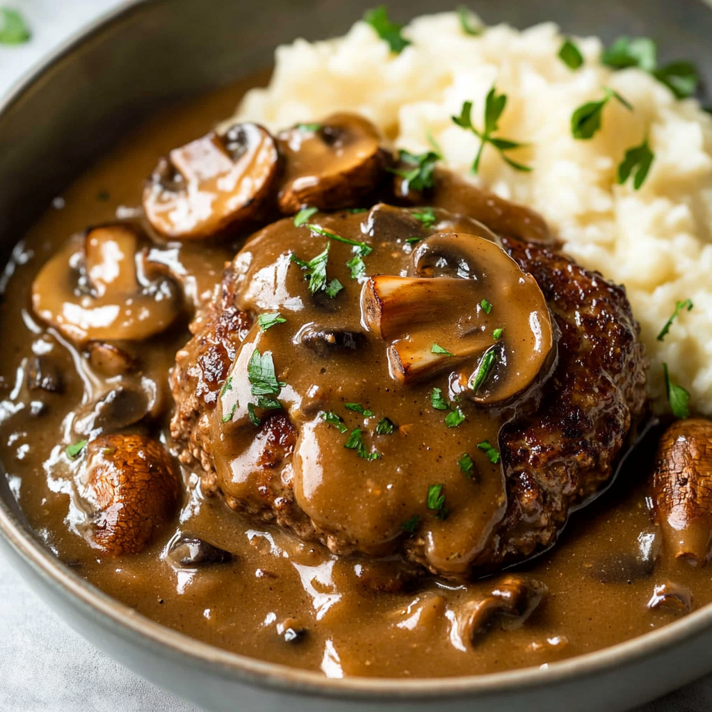
<svg viewBox="0 0 712 712"><path fill-rule="evenodd" d="M179 290L154 278L135 231L97 227L70 242L32 285L35 313L74 342L141 341L162 332L181 311Z"/></svg>

